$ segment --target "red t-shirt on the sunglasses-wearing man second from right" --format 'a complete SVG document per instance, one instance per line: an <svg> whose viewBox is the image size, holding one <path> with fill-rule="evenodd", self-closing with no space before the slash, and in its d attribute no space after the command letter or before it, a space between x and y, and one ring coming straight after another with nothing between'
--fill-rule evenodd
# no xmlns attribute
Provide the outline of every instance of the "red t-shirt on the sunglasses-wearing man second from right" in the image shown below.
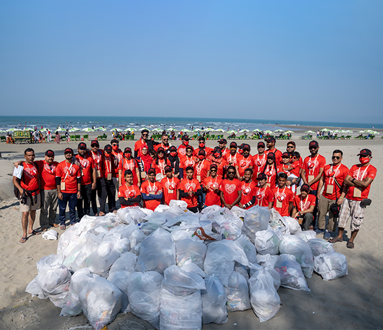
<svg viewBox="0 0 383 330"><path fill-rule="evenodd" d="M339 198L340 194L342 193L344 179L348 173L349 169L342 163L337 166L332 166L332 164L326 165L322 172L322 177L324 178L324 189L322 195L328 199L332 199L333 201L336 198ZM338 181L340 188L336 186L334 177Z"/></svg>

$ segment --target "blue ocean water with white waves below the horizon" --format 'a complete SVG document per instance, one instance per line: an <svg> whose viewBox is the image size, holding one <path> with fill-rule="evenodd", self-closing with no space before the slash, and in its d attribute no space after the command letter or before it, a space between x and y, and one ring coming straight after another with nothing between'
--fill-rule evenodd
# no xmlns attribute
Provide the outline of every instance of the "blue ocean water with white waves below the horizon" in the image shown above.
<svg viewBox="0 0 383 330"><path fill-rule="evenodd" d="M193 128L213 127L214 129L222 128L225 131L234 129L276 129L274 125L278 124L278 128L287 129L283 125L296 125L293 131L306 130L307 126L324 126L324 127L365 127L372 129L383 129L383 124L357 124L357 123L339 123L339 122L321 122L321 121L287 121L287 120L257 120L257 119L230 119L230 118L180 118L180 117L117 117L117 116L0 116L0 129L6 130L9 128L35 127L38 129L49 128L56 129L57 127L79 129L85 127L104 126L108 131L113 128L126 129L134 127L140 129L159 128L168 130L170 127L175 130ZM272 125L271 127L268 125ZM274 127L273 127L274 126Z"/></svg>

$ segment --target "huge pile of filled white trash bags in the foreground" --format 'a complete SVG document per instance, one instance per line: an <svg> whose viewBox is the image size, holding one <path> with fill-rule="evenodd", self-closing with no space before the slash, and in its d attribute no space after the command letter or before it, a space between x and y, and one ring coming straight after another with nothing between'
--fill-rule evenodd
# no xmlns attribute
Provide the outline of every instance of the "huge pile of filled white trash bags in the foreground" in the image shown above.
<svg viewBox="0 0 383 330"><path fill-rule="evenodd" d="M280 286L309 291L313 271L324 280L347 274L331 243L275 209L194 214L183 201L84 216L36 266L26 291L62 316L83 313L97 330L128 312L159 329L201 329L246 309L265 322L282 306Z"/></svg>

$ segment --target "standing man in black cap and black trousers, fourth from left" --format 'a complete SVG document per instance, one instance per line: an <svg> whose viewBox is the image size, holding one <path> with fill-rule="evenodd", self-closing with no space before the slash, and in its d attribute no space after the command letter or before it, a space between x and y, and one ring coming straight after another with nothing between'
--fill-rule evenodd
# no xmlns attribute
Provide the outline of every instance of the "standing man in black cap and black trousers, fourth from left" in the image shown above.
<svg viewBox="0 0 383 330"><path fill-rule="evenodd" d="M74 160L81 172L81 198L77 201L77 215L81 220L85 214L90 214L90 200L92 190L96 189L97 179L95 162L90 155L87 155L87 145L84 142L79 143L77 152Z"/></svg>

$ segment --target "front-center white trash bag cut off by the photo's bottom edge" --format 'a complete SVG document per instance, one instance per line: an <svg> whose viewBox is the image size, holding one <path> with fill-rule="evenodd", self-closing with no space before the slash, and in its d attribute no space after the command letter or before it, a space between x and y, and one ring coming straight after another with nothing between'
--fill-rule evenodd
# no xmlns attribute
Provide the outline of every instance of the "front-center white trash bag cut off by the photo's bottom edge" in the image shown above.
<svg viewBox="0 0 383 330"><path fill-rule="evenodd" d="M202 328L202 299L200 290L188 296L176 296L161 289L160 329L200 330Z"/></svg>

